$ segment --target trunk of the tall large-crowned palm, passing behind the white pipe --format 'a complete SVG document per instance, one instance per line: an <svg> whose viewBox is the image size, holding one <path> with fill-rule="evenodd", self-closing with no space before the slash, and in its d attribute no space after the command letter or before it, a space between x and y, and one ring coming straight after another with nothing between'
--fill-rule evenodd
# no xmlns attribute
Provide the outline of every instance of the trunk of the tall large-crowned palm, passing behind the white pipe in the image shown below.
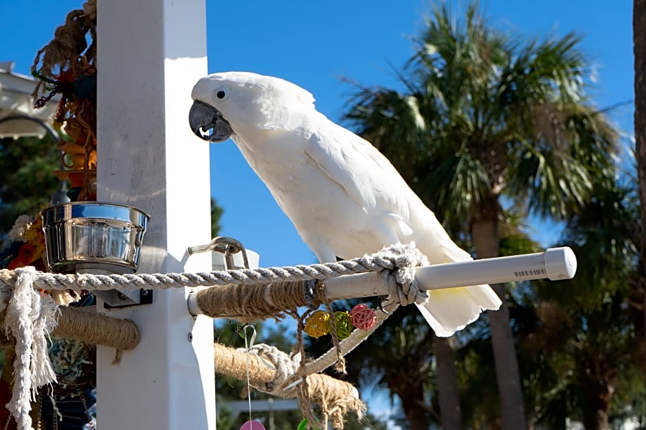
<svg viewBox="0 0 646 430"><path fill-rule="evenodd" d="M471 241L479 259L498 256L500 232L498 231L498 200L489 198L481 202L479 211L471 222ZM489 329L493 344L495 377L498 381L502 429L527 429L522 402L522 389L516 350L511 333L509 307L504 296L504 284L491 285L502 300L498 311L489 311Z"/></svg>

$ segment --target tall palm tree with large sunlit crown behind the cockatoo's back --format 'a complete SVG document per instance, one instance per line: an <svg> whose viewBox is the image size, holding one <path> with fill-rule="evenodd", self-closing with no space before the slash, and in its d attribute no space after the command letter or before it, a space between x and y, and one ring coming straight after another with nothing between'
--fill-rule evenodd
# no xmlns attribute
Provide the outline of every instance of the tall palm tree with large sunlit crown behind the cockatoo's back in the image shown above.
<svg viewBox="0 0 646 430"><path fill-rule="evenodd" d="M438 6L414 43L398 73L405 91L361 88L346 119L445 226L486 258L499 254L502 202L546 217L577 211L615 143L586 98L579 37L511 38L472 3L462 20ZM489 322L503 428L526 428L506 304Z"/></svg>

